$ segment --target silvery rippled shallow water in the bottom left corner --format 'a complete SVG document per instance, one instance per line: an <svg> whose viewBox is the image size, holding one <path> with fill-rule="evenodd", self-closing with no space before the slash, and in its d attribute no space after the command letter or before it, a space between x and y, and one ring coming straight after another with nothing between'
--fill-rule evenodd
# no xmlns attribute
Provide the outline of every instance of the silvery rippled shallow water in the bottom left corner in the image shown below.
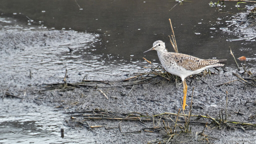
<svg viewBox="0 0 256 144"><path fill-rule="evenodd" d="M50 106L37 105L25 100L5 98L0 101L0 143L79 143L84 139L94 143L93 137L74 135L63 125L66 114ZM61 138L64 129L64 138ZM83 132L83 130L81 130Z"/></svg>

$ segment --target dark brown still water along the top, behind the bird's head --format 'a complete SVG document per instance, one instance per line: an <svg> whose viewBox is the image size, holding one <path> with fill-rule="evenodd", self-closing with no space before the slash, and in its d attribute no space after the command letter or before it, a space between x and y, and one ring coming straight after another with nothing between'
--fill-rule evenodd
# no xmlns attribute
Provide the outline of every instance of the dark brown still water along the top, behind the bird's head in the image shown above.
<svg viewBox="0 0 256 144"><path fill-rule="evenodd" d="M242 9L247 8L245 4L240 4L238 9L235 3L227 2L225 7L216 8L210 7L205 1L183 2L182 5L175 1L65 1L63 3L67 5L63 6L59 2L44 1L38 4L30 0L7 9L13 2L5 1L1 9L4 11L3 15L18 18L28 26L37 24L41 28L73 29L100 34L100 41L93 47L93 54L104 54L102 58L106 59L111 54L112 59L117 60L114 62L111 59L115 65L121 59L143 61L142 57L145 56L158 61L155 52L142 54L155 40L163 40L169 51L173 51L167 37L171 33L168 18L172 19L181 53L204 59L227 58L228 46L238 55L236 50L252 44L247 41L229 41L239 39L242 33L237 32L226 21L233 20L232 23L237 24L234 19L238 19L239 15L236 13L246 12L247 9ZM49 3L58 8L48 6ZM173 7L174 5L176 6ZM23 6L30 8L23 9ZM242 54L251 56L249 52ZM231 60L228 62L233 64Z"/></svg>

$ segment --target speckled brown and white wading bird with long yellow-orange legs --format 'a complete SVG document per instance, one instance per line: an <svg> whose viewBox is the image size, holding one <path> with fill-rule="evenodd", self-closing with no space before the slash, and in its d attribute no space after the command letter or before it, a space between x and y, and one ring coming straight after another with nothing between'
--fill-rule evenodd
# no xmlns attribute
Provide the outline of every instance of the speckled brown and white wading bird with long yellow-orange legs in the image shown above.
<svg viewBox="0 0 256 144"><path fill-rule="evenodd" d="M181 78L184 95L183 109L185 109L185 106L187 106L187 84L185 78L190 75L198 74L207 68L224 66L222 62L226 61L226 59L200 59L186 54L168 52L165 49L164 42L161 40L155 41L153 43L153 47L143 53L150 50L157 51L158 58L168 73L177 75Z"/></svg>

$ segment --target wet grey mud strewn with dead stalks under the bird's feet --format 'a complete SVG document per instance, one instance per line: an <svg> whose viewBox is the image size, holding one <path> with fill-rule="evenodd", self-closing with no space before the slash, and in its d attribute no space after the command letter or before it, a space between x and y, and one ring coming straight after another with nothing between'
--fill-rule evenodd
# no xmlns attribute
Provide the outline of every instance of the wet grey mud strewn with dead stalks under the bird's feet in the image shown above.
<svg viewBox="0 0 256 144"><path fill-rule="evenodd" d="M200 77L204 82L198 78L187 80L190 81L187 104L191 104L194 87L193 104L191 111L188 106L184 113L179 110L182 85L176 86L175 81L163 77L79 83L68 83L68 78L66 86L64 82L44 85L28 90L27 95L35 95L31 91L36 91L37 96L28 99L39 105L52 105L58 112L67 114L65 125L77 131L77 135L81 130L88 131L85 135L95 143L253 142L255 87L239 81L217 86L237 77L230 72L215 73ZM185 132L189 112L190 122ZM69 130L64 130L64 136ZM248 138L232 139L234 136Z"/></svg>

